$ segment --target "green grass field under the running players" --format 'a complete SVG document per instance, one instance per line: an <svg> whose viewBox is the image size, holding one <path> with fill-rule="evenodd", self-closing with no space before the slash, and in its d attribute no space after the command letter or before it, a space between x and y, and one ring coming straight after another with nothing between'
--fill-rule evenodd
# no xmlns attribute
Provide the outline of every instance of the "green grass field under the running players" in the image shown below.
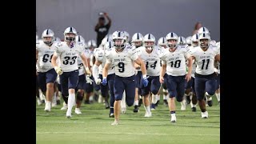
<svg viewBox="0 0 256 144"><path fill-rule="evenodd" d="M157 110L151 118L144 118L143 105L138 114L134 106L128 107L126 114L120 115L120 125L111 126L114 118L109 118L109 109L102 103L82 104L82 114L72 113L66 118L61 106L53 107L50 113L44 105L36 107L37 144L87 144L87 143L220 143L220 106L213 97L214 106L207 107L209 118L202 119L201 111L192 112L190 105L180 110L176 102L177 122L170 122L168 107L162 105L162 96Z"/></svg>

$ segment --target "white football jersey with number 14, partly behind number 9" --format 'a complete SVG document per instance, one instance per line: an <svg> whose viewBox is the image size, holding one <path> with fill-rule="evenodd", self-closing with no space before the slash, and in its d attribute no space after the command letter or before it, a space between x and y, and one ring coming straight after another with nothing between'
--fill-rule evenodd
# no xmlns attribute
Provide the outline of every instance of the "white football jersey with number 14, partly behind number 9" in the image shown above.
<svg viewBox="0 0 256 144"><path fill-rule="evenodd" d="M138 48L138 56L142 58L142 61L146 66L146 75L149 76L159 76L160 75L160 58L159 50L157 46L154 46L154 49L150 54L146 52L146 47L141 46Z"/></svg>

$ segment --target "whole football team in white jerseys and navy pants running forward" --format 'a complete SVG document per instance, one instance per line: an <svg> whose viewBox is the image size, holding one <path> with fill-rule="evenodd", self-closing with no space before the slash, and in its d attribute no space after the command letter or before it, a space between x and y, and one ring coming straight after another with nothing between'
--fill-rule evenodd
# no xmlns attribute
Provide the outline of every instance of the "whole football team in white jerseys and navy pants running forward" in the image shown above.
<svg viewBox="0 0 256 144"><path fill-rule="evenodd" d="M73 106L75 114L82 114L83 99L90 104L104 98L114 118L111 125L118 125L126 106L134 106L138 113L143 104L145 117L152 117L160 90L170 122L177 121L175 99L181 110L190 105L196 111L198 105L202 118L208 118L206 106L213 106L212 96L220 102L220 42L210 38L206 27L187 38L170 32L158 43L153 34L135 33L130 42L126 31L114 31L96 47L74 27L66 28L63 42L53 30L44 30L36 41L38 105L45 97L45 111L50 112L61 95L61 110L71 118Z"/></svg>

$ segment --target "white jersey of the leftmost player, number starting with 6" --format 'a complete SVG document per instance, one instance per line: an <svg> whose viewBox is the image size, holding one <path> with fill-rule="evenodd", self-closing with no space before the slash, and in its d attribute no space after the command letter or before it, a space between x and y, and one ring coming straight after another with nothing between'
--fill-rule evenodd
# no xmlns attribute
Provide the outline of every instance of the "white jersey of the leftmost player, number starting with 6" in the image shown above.
<svg viewBox="0 0 256 144"><path fill-rule="evenodd" d="M54 67L51 65L51 58L54 55L54 42L51 46L47 46L42 40L37 41L36 50L38 50L37 71L46 72Z"/></svg>

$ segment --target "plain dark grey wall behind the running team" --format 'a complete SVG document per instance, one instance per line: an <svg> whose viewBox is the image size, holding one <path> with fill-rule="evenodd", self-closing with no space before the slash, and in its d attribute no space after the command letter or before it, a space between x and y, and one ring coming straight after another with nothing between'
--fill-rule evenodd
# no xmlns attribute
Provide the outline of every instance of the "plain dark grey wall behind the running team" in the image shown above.
<svg viewBox="0 0 256 144"><path fill-rule="evenodd" d="M86 41L96 39L98 13L106 11L112 19L110 34L115 30L126 30L130 37L151 33L158 40L174 32L186 38L199 21L212 39L220 40L219 0L37 0L36 11L39 38L47 28L63 38L66 27L74 26Z"/></svg>

